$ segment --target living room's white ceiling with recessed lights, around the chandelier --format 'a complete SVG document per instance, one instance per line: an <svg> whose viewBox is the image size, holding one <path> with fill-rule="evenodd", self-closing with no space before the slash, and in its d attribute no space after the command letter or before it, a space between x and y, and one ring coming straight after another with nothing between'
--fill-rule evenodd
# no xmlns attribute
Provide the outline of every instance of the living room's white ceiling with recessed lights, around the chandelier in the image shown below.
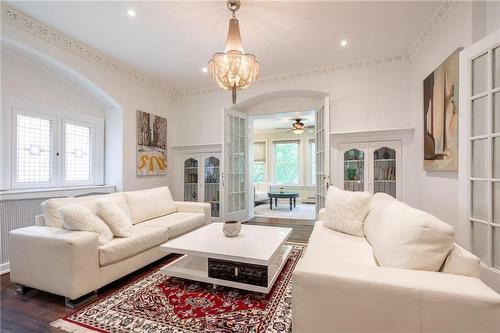
<svg viewBox="0 0 500 333"><path fill-rule="evenodd" d="M176 92L213 84L201 68L224 49L229 19L224 1L9 3ZM439 5L244 0L237 16L245 50L269 76L406 53Z"/></svg>

